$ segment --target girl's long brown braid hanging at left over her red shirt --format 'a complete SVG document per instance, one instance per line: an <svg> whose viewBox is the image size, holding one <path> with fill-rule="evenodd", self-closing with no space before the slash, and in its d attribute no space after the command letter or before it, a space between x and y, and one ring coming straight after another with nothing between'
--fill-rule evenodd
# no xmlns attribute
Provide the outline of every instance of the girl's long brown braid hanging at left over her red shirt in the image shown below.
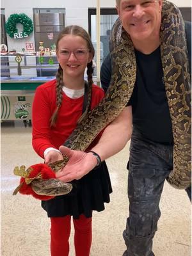
<svg viewBox="0 0 192 256"><path fill-rule="evenodd" d="M62 95L62 87L63 87L63 69L59 65L58 71L56 73L56 110L51 116L51 127L56 124L58 110L61 107L61 103L63 100Z"/></svg>

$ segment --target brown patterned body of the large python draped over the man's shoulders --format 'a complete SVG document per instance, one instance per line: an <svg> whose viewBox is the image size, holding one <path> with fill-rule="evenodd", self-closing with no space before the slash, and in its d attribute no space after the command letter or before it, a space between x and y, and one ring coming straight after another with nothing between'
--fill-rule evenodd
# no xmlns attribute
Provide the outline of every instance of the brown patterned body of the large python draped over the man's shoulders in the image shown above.
<svg viewBox="0 0 192 256"><path fill-rule="evenodd" d="M168 1L163 1L160 37L174 140L173 170L167 180L175 188L185 189L191 184L191 81L184 20L177 6ZM113 70L106 97L77 125L65 142L68 148L86 150L97 134L122 112L132 95L136 81L136 57L131 38L119 19L111 30L110 51ZM58 171L66 163L64 158L50 166ZM43 184L44 180L33 182Z"/></svg>

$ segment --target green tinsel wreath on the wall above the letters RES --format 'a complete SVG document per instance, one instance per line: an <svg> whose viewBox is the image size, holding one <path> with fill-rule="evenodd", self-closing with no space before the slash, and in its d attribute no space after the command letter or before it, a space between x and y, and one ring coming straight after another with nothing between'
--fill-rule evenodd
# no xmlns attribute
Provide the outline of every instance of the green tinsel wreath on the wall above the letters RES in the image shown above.
<svg viewBox="0 0 192 256"><path fill-rule="evenodd" d="M25 35L30 35L31 32L33 32L33 21L24 13L15 13L10 15L5 25L6 33L8 33L10 37L13 38L14 34L18 33L18 29L16 28L17 23L22 24L22 35L24 37L26 37Z"/></svg>

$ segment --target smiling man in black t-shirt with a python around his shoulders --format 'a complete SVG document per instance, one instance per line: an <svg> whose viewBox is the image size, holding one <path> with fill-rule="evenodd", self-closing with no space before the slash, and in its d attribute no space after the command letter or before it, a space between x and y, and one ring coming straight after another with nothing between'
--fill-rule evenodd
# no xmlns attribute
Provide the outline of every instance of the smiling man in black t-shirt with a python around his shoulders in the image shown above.
<svg viewBox="0 0 192 256"><path fill-rule="evenodd" d="M132 132L127 164L129 218L124 230L127 245L124 256L154 255L152 239L161 214L159 200L164 180L173 170L172 120L160 51L162 6L163 0L116 1L122 26L134 45L136 81L127 106L106 127L99 143L92 148L103 161L121 150ZM108 56L101 70L101 81L106 86L109 84L110 74L111 63ZM92 152L85 154L65 147L60 147L60 150L70 157L67 166L58 174L58 178L65 182L81 179L100 161ZM191 196L190 188L187 192Z"/></svg>

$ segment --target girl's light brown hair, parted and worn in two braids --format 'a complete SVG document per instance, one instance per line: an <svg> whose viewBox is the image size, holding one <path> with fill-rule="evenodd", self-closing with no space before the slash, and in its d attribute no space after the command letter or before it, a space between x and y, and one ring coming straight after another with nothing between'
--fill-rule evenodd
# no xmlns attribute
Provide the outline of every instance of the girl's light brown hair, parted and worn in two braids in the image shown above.
<svg viewBox="0 0 192 256"><path fill-rule="evenodd" d="M87 47L90 51L90 54L92 54L92 56L94 57L95 55L95 50L92 44L92 40L90 39L90 36L88 35L88 33L86 32L86 30L84 30L83 28L81 28L80 26L67 26L65 27L60 35L58 36L58 40L56 42L56 51L58 51L58 44L61 40L61 38L63 38L63 36L66 35L76 35L76 36L81 36L87 44ZM89 88L92 88L92 84L93 84L93 62L90 61L90 63L87 64L87 76L88 76L88 86ZM59 65L58 71L56 73L56 110L54 111L54 113L51 116L51 127L53 125L56 124L56 119L58 116L58 110L61 107L61 103L62 103L62 87L63 87L63 69L61 68L61 66ZM86 113L88 112L88 109L90 108L90 103L91 103L91 97L88 98L88 103L86 106Z"/></svg>

